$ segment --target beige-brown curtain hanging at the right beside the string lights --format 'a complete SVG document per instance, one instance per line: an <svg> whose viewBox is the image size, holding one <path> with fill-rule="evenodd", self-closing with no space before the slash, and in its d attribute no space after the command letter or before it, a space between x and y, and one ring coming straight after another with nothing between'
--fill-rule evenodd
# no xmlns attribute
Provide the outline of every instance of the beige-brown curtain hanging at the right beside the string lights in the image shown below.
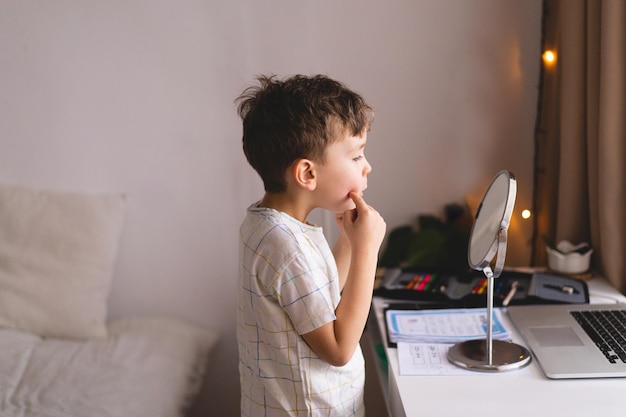
<svg viewBox="0 0 626 417"><path fill-rule="evenodd" d="M543 237L590 242L626 293L626 1L544 0L531 263Z"/></svg>

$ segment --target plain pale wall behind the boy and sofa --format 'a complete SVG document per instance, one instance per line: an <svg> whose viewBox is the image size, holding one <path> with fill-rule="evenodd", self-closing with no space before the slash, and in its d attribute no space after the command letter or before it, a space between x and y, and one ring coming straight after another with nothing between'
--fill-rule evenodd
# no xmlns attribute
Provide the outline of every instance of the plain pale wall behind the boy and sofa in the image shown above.
<svg viewBox="0 0 626 417"><path fill-rule="evenodd" d="M325 73L376 108L366 198L389 228L482 196L530 205L540 0L0 2L0 181L124 191L110 315L223 339L211 415L238 414L238 226L261 196L233 100L260 73ZM528 262L513 222L509 264Z"/></svg>

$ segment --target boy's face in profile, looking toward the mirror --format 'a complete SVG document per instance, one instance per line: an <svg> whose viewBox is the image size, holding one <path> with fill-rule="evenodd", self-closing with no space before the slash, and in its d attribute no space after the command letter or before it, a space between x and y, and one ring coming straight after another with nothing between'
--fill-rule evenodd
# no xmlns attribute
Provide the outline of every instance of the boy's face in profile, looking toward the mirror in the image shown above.
<svg viewBox="0 0 626 417"><path fill-rule="evenodd" d="M317 166L319 206L336 213L355 208L350 192L362 195L367 188L367 174L372 171L365 159L367 133L345 135L326 148L326 161Z"/></svg>

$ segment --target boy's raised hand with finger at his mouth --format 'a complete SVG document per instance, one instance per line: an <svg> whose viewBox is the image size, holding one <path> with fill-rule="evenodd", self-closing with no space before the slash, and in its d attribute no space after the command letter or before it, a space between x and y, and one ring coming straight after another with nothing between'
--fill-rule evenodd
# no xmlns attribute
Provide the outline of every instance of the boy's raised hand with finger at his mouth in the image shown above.
<svg viewBox="0 0 626 417"><path fill-rule="evenodd" d="M356 208L343 213L343 231L353 249L378 251L387 229L385 220L359 194L351 192L350 198Z"/></svg>

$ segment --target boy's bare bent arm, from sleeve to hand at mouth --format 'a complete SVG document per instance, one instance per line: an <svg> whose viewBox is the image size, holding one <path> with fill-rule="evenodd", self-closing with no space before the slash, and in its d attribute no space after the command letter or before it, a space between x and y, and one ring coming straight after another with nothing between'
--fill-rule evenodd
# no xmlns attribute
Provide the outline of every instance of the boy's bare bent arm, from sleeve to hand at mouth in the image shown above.
<svg viewBox="0 0 626 417"><path fill-rule="evenodd" d="M372 301L378 250L386 227L380 214L360 196L352 193L351 197L356 209L346 212L343 220L350 243L350 262L341 301L335 310L336 319L303 335L311 349L334 366L348 363L363 334Z"/></svg>

